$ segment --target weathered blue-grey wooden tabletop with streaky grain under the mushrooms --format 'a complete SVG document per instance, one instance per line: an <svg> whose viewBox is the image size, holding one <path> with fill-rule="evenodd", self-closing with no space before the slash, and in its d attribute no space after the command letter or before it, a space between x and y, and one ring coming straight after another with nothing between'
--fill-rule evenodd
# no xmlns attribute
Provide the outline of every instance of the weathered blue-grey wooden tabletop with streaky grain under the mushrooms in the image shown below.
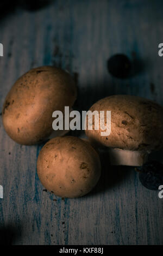
<svg viewBox="0 0 163 256"><path fill-rule="evenodd" d="M80 111L122 93L163 105L163 58L158 56L162 11L161 0L55 0L34 12L16 9L0 20L1 110L15 80L42 65L75 73L75 108ZM134 74L127 80L112 78L107 71L108 57L117 52L134 61ZM111 168L103 153L102 177L93 192L62 200L43 191L37 177L42 145L16 144L5 133L2 118L0 141L0 237L5 231L16 245L163 243L163 199L142 187L134 168Z"/></svg>

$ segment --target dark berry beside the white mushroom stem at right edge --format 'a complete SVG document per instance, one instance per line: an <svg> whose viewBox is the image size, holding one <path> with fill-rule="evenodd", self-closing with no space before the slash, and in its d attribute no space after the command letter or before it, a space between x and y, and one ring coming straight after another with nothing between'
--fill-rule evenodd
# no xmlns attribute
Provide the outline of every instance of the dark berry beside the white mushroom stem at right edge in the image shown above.
<svg viewBox="0 0 163 256"><path fill-rule="evenodd" d="M139 180L148 189L158 190L163 185L163 164L150 161L136 168L139 171Z"/></svg>

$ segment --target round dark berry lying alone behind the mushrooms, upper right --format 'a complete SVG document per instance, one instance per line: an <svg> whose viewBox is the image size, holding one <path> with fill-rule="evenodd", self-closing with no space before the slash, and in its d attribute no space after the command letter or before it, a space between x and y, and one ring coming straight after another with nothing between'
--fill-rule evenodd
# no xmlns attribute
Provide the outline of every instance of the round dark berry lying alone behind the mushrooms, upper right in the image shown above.
<svg viewBox="0 0 163 256"><path fill-rule="evenodd" d="M116 54L108 59L108 70L116 78L128 78L131 70L130 59L124 54Z"/></svg>

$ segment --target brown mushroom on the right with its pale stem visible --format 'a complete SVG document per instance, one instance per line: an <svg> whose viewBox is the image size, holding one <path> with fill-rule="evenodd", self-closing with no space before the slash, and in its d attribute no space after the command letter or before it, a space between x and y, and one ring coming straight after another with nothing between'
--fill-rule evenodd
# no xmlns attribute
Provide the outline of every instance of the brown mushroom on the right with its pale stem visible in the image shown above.
<svg viewBox="0 0 163 256"><path fill-rule="evenodd" d="M102 136L100 126L86 129L86 135L98 147L108 147L112 165L141 166L151 151L163 145L163 108L152 100L115 95L99 100L90 110L105 111L105 118L111 111L110 135Z"/></svg>

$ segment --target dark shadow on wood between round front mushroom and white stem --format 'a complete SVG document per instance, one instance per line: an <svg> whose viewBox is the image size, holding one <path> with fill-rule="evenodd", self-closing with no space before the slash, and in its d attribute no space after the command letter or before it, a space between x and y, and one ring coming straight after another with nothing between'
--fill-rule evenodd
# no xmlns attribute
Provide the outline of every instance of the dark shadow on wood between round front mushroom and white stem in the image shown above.
<svg viewBox="0 0 163 256"><path fill-rule="evenodd" d="M123 180L130 175L134 167L131 166L115 166L110 165L108 159L108 152L100 152L102 173L101 177L92 191L85 195L85 197L96 196L96 194L106 192L116 186L119 186Z"/></svg>

